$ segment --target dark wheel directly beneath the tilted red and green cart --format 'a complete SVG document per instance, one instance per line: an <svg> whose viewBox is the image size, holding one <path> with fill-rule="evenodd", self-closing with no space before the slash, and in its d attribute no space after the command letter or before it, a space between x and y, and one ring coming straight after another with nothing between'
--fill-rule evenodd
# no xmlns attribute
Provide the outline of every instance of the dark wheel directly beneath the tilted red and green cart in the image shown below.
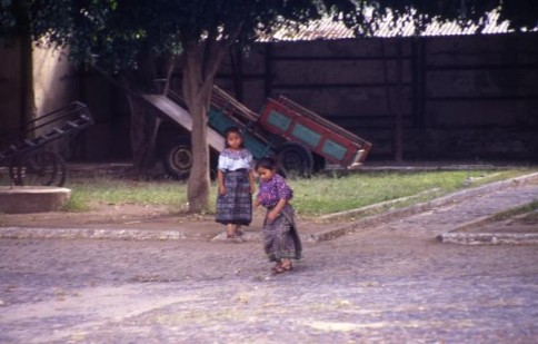
<svg viewBox="0 0 538 344"><path fill-rule="evenodd" d="M312 153L296 142L286 142L278 149L278 163L287 175L308 177L312 174Z"/></svg>

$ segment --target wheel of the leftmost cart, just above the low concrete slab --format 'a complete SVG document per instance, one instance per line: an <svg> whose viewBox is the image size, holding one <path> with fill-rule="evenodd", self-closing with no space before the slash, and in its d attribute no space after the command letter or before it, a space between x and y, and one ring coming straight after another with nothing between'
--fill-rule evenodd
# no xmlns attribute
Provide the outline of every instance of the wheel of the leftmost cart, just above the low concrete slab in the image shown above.
<svg viewBox="0 0 538 344"><path fill-rule="evenodd" d="M24 154L17 167L18 185L63 186L66 163L56 153L37 149Z"/></svg>

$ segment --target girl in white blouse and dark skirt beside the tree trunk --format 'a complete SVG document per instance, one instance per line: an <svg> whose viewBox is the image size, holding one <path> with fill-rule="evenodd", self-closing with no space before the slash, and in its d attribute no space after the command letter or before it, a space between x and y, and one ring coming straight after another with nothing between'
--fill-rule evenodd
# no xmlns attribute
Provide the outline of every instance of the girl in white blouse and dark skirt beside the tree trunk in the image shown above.
<svg viewBox="0 0 538 344"><path fill-rule="evenodd" d="M245 148L238 128L228 128L225 139L226 148L220 153L217 171L216 220L226 225L229 239L236 239L242 237L240 227L252 222L252 155Z"/></svg>

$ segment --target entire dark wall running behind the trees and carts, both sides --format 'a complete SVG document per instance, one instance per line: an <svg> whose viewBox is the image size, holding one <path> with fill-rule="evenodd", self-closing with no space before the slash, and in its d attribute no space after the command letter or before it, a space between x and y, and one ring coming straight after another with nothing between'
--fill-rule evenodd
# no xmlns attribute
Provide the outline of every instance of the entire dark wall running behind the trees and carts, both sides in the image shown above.
<svg viewBox="0 0 538 344"><path fill-rule="evenodd" d="M538 35L405 38L401 55L397 47L397 39L378 38L259 43L228 58L217 85L256 112L266 97L283 95L371 141L369 159L393 157L400 111L405 159L538 160ZM3 129L17 124L17 51L0 53L0 62ZM96 117L69 144L69 158L130 158L121 90L53 51L37 52L34 69L40 114L79 99ZM172 85L180 79L178 66ZM165 124L160 147L176 130Z"/></svg>

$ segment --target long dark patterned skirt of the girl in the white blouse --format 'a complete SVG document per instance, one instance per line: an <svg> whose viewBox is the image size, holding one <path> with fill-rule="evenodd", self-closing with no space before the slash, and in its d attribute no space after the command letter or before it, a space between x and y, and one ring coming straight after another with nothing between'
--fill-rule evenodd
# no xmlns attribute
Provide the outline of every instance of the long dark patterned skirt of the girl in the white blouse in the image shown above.
<svg viewBox="0 0 538 344"><path fill-rule="evenodd" d="M217 196L217 218L220 224L248 226L252 222L252 194L249 171L239 169L225 173L226 195Z"/></svg>

